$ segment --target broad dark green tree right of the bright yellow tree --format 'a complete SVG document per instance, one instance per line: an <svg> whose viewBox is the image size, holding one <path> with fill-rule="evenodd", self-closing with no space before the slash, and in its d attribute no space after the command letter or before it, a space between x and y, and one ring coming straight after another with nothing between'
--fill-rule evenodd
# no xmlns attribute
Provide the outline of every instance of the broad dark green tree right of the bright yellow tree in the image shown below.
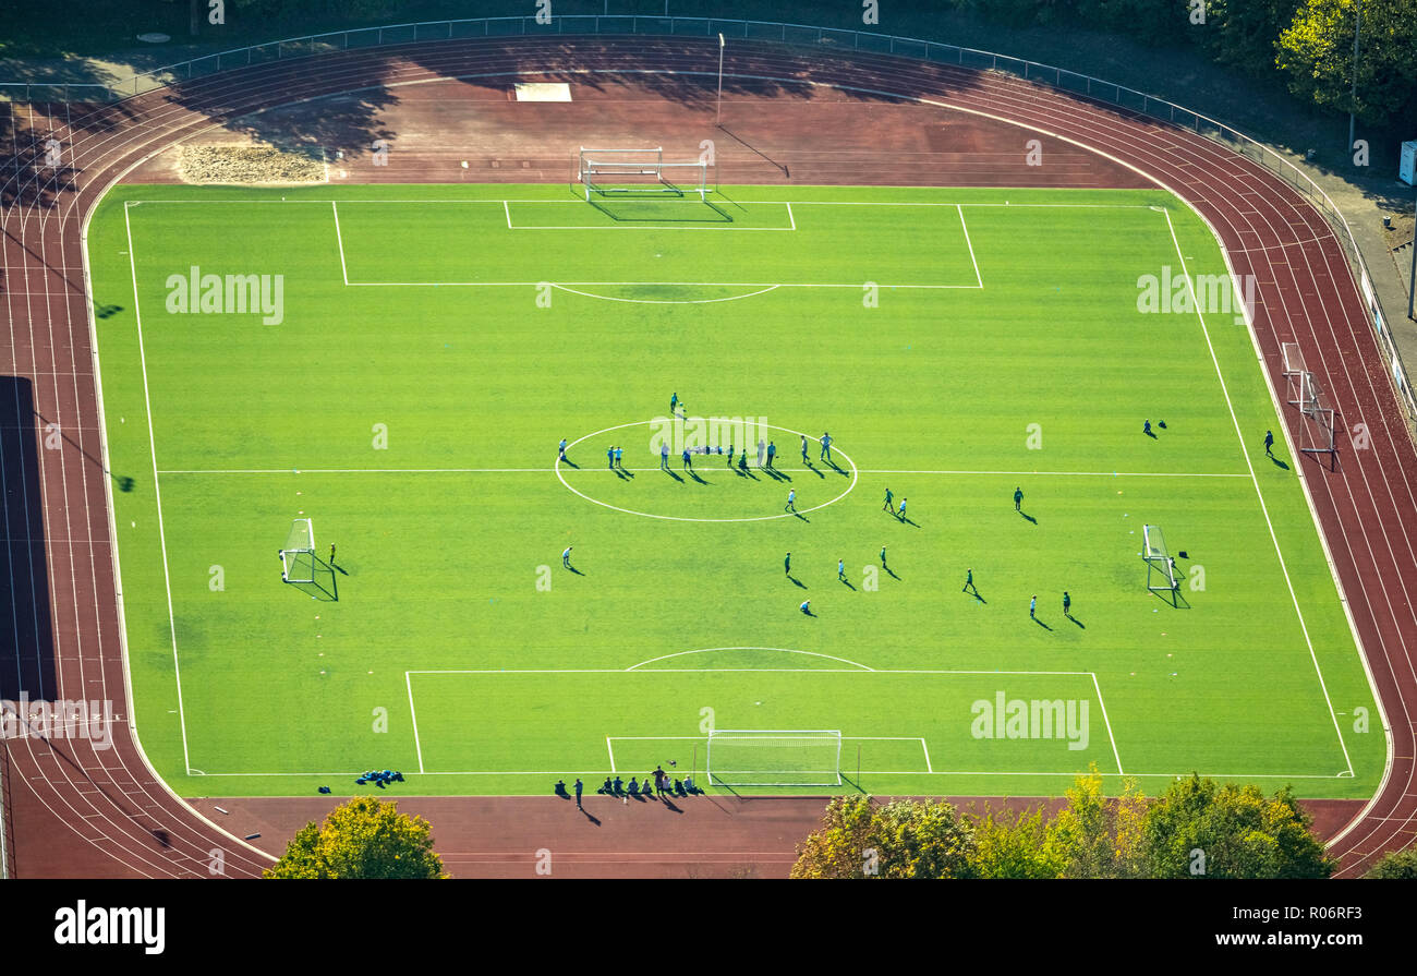
<svg viewBox="0 0 1417 976"><path fill-rule="evenodd" d="M1156 878L1326 878L1338 864L1309 831L1289 787L1172 783L1148 811L1142 848Z"/></svg>

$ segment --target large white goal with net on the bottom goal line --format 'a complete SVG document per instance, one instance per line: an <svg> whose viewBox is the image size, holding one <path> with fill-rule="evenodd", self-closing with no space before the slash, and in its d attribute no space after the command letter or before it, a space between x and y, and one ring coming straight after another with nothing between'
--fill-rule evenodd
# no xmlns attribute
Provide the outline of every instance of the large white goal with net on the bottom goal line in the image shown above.
<svg viewBox="0 0 1417 976"><path fill-rule="evenodd" d="M839 731L713 731L708 782L720 786L840 786Z"/></svg>

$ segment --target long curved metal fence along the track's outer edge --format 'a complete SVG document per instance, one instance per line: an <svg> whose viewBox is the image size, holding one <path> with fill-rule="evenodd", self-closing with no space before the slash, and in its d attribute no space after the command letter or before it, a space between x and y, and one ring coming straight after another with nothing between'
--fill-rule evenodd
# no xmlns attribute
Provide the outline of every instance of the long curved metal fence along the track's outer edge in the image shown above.
<svg viewBox="0 0 1417 976"><path fill-rule="evenodd" d="M951 64L965 68L1003 71L1019 78L1050 85L1076 95L1084 95L1098 102L1115 105L1195 132L1212 142L1244 156L1281 177L1302 193L1328 220L1339 245L1348 258L1353 279L1367 305L1369 323L1377 335L1377 345L1390 367L1393 384L1407 411L1408 420L1417 420L1417 396L1407 380L1397 345L1387 325L1377 294L1373 289L1367 264L1357 248L1353 231L1328 193L1308 173L1264 143L1244 135L1224 122L1207 118L1192 109L1156 98L1146 92L1117 85L1101 78L1077 74L1037 61L1013 58L992 51L978 51L954 44L922 41L894 34L880 34L808 24L781 24L761 20L724 20L710 17L642 17L642 16L574 16L574 17L478 17L468 20L435 20L414 24L390 24L385 27L361 27L357 30L330 31L306 37L290 37L266 44L232 48L200 58L180 61L145 71L112 85L94 84L3 84L0 96L26 102L116 102L135 98L167 85L204 78L221 71L247 68L271 61L305 58L333 51L384 47L390 44L414 44L421 41L446 41L478 37L548 37L548 35L640 35L640 37L714 37L751 41L775 41L815 47L823 51L864 51L870 54L893 54L917 58L934 64Z"/></svg>

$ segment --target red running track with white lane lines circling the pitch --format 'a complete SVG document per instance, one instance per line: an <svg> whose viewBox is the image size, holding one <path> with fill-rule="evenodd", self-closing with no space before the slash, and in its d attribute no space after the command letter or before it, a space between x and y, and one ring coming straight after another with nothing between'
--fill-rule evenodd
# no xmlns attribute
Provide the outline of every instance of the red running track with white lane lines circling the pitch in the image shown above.
<svg viewBox="0 0 1417 976"><path fill-rule="evenodd" d="M23 545L9 535L7 523L10 559L0 566L0 580L31 601L35 621L47 606L52 627L47 640L38 623L35 633L26 633L18 614L0 620L0 640L13 630L17 687L30 688L31 697L128 701L82 253L85 220L113 182L179 139L296 99L509 72L701 87L716 74L717 58L716 44L690 38L463 40L273 62L115 106L11 106L4 133L11 159L0 184L6 316L0 375L34 384L40 420L23 431L26 437L38 441L50 423L58 424L51 433L62 434L55 450L35 445L37 471L0 472L7 485L37 484L34 508L43 516L41 528L23 526ZM1332 851L1342 858L1340 875L1352 877L1376 854L1411 843L1417 616L1404 570L1414 562L1407 526L1417 525L1417 498L1408 472L1417 471L1417 458L1363 301L1323 217L1287 183L1217 143L1007 75L764 43L735 44L724 72L737 91L832 85L863 99L928 99L1051 135L1135 169L1210 223L1236 274L1258 281L1254 335L1274 386L1282 389L1280 343L1299 342L1345 424L1367 426L1370 448L1343 451L1336 471L1315 462L1299 467L1391 742L1379 793L1339 831ZM57 167L45 165L48 139L58 143ZM1294 420L1288 411L1281 418ZM1292 427L1289 443L1299 443ZM14 566L16 552L43 555L47 592L31 592L35 576ZM0 671L10 667L10 655L0 655ZM0 769L11 821L6 840L11 853L23 853L11 871L208 877L213 853L220 851L224 875L256 874L268 863L265 855L200 817L156 777L126 708L113 723L112 749L71 739L6 743ZM28 853L47 843L52 854Z"/></svg>

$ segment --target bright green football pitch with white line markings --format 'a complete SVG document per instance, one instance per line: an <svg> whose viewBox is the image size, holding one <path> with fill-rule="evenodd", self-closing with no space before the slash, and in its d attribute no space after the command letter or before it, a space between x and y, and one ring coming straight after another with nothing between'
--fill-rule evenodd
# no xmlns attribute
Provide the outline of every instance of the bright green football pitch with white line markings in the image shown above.
<svg viewBox="0 0 1417 976"><path fill-rule="evenodd" d="M1243 319L1138 309L1226 274L1165 193L120 186L88 245L137 731L183 794L703 782L710 728L839 731L871 793L1382 776Z"/></svg>

